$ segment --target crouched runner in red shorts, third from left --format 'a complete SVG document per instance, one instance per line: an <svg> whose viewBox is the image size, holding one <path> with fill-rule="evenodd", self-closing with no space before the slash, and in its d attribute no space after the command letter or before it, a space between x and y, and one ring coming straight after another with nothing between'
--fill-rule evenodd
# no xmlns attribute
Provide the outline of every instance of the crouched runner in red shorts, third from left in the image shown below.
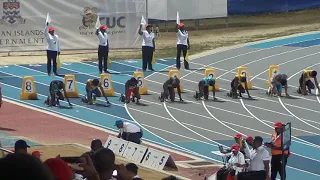
<svg viewBox="0 0 320 180"><path fill-rule="evenodd" d="M132 95L132 98L131 98ZM135 98L137 100L135 100ZM120 101L125 103L136 102L139 104L139 100L141 99L139 94L139 86L136 78L132 77L125 84L125 95L121 94Z"/></svg>

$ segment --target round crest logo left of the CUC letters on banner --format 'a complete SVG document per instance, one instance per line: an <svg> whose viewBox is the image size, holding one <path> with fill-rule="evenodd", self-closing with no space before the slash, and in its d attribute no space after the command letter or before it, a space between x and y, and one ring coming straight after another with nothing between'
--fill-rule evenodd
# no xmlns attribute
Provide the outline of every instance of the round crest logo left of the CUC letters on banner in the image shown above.
<svg viewBox="0 0 320 180"><path fill-rule="evenodd" d="M98 17L99 9L96 7L85 7L83 9L82 16L82 26L79 27L79 30L84 29L94 29L97 17Z"/></svg>

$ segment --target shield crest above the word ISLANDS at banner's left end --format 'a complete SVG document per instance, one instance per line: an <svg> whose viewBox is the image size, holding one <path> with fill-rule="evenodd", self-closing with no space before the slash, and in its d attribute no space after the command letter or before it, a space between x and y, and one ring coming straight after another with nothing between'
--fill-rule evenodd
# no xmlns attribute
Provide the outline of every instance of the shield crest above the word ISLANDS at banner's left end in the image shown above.
<svg viewBox="0 0 320 180"><path fill-rule="evenodd" d="M3 16L0 19L0 24L25 24L25 21L20 15L20 2L18 0L3 2Z"/></svg>

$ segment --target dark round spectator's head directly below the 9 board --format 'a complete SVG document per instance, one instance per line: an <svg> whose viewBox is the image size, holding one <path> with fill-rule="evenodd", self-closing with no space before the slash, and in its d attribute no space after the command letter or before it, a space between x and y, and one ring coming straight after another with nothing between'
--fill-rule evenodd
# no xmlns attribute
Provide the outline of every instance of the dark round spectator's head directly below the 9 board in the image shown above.
<svg viewBox="0 0 320 180"><path fill-rule="evenodd" d="M94 166L97 172L113 171L115 158L114 153L110 149L99 149L93 157Z"/></svg>

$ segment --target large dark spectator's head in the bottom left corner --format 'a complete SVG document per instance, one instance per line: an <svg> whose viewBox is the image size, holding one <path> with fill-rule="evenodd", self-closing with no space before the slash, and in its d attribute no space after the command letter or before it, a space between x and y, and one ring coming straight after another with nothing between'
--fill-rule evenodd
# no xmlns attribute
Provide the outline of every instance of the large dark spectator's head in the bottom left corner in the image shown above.
<svg viewBox="0 0 320 180"><path fill-rule="evenodd" d="M8 154L0 159L1 180L56 180L39 159L25 153Z"/></svg>

